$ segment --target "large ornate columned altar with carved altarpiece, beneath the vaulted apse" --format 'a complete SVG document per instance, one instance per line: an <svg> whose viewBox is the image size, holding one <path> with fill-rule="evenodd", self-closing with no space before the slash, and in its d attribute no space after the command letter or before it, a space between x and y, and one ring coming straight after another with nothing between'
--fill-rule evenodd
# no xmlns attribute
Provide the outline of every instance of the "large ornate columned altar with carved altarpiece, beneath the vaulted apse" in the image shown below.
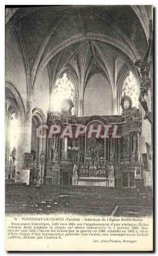
<svg viewBox="0 0 158 256"><path fill-rule="evenodd" d="M75 135L48 136L44 183L106 188L135 186L137 177L131 173L135 173L136 167L141 173L138 154L141 126L138 109L128 110L115 117L55 116L54 113L48 113L48 125L52 124L60 125L62 132L65 127L71 127L71 134ZM105 134L102 128L107 128L107 124L110 129ZM86 132L79 137L76 137L75 132L77 125L87 127ZM51 129L48 129L48 135L49 130ZM88 136L90 131L91 137Z"/></svg>

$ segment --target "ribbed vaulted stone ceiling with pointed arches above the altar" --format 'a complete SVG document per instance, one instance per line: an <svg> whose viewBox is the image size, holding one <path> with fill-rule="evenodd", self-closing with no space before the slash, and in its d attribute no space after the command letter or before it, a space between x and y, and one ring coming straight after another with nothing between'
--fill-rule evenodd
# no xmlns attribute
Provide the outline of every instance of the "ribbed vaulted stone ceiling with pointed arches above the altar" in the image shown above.
<svg viewBox="0 0 158 256"><path fill-rule="evenodd" d="M150 15L148 6L39 6L8 8L6 23L20 44L31 89L48 67L51 84L67 70L84 90L93 73L112 87L127 69L138 76L134 61L147 48Z"/></svg>

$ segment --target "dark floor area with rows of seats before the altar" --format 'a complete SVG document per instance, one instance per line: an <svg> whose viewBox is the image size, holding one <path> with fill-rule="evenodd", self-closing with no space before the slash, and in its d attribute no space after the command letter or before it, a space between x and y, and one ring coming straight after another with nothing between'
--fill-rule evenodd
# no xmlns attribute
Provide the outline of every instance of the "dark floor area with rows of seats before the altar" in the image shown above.
<svg viewBox="0 0 158 256"><path fill-rule="evenodd" d="M10 197L9 197L10 196ZM135 190L12 186L6 189L6 213L76 213L104 216L148 216L152 199L138 198Z"/></svg>

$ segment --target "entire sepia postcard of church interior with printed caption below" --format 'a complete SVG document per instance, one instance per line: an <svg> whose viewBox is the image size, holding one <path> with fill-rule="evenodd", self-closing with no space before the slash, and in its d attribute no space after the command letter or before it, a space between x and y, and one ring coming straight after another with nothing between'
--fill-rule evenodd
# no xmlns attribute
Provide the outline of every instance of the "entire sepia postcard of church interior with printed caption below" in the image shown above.
<svg viewBox="0 0 158 256"><path fill-rule="evenodd" d="M152 244L153 52L151 5L5 6L6 223L133 221Z"/></svg>

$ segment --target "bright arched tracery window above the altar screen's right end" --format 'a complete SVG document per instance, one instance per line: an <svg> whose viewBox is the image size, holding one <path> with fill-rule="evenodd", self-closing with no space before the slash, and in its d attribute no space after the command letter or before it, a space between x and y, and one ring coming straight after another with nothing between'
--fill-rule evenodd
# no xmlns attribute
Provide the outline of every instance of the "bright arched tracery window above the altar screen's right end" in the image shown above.
<svg viewBox="0 0 158 256"><path fill-rule="evenodd" d="M138 95L138 82L134 78L133 73L130 71L130 73L127 75L127 78L123 83L121 96L130 96L133 102L133 107L138 108Z"/></svg>

